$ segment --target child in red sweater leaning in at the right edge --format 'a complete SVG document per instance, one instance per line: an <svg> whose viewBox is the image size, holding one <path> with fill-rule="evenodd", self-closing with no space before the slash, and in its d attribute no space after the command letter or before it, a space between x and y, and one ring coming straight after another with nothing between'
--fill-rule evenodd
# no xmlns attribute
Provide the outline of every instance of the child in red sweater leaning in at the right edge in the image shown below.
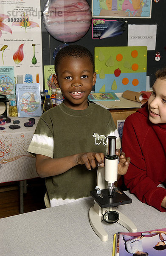
<svg viewBox="0 0 166 256"><path fill-rule="evenodd" d="M156 72L148 102L125 120L122 150L131 157L124 184L140 201L165 212L166 68Z"/></svg>

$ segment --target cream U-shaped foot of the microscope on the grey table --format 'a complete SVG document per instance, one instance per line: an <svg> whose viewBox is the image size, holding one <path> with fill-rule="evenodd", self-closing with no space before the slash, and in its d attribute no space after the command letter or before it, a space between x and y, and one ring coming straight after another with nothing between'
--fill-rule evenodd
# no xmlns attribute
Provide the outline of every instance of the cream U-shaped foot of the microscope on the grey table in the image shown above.
<svg viewBox="0 0 166 256"><path fill-rule="evenodd" d="M119 212L116 207L108 207L108 208L101 208L96 202L93 207L89 210L89 219L90 225L93 228L96 235L104 242L108 241L108 234L104 230L101 221L103 219L103 214L105 211L116 211L119 214L119 220L117 221L119 224L124 226L129 232L137 232L137 227L135 224L130 221L123 213Z"/></svg>

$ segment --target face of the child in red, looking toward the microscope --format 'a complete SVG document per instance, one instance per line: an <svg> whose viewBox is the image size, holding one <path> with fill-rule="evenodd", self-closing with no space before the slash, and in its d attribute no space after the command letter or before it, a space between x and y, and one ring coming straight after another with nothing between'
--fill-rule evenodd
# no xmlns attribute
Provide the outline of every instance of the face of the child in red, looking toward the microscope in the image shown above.
<svg viewBox="0 0 166 256"><path fill-rule="evenodd" d="M148 100L149 120L153 124L166 123L166 79L156 79Z"/></svg>

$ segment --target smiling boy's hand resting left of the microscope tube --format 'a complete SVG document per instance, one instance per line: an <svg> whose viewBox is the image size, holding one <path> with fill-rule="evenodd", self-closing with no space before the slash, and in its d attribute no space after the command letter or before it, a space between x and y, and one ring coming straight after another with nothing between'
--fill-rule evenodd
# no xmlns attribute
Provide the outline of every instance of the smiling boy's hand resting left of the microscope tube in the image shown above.
<svg viewBox="0 0 166 256"><path fill-rule="evenodd" d="M88 170L96 166L104 167L104 153L88 152L80 153L76 157L77 164L84 164Z"/></svg>

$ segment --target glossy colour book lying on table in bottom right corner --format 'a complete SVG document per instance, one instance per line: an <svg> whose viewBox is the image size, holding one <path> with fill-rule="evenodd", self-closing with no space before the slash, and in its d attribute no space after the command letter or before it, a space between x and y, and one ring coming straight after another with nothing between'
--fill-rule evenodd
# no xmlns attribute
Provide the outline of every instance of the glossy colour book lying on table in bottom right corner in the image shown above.
<svg viewBox="0 0 166 256"><path fill-rule="evenodd" d="M112 256L137 256L138 252L143 252L143 256L166 255L166 228L114 234Z"/></svg>

